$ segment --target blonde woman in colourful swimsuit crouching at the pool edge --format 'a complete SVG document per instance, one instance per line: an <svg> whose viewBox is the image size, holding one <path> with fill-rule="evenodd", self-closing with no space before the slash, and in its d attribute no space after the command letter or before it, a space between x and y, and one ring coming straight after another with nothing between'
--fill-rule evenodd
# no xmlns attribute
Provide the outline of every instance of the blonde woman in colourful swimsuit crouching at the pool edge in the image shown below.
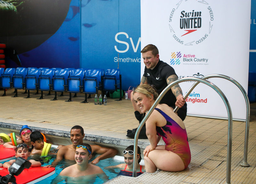
<svg viewBox="0 0 256 184"><path fill-rule="evenodd" d="M133 97L141 113L148 111L158 94L148 84L140 84ZM191 154L188 135L183 121L166 104L158 104L146 121L146 134L150 145L144 150L146 172L154 173L157 168L164 171L182 171L188 167ZM165 145L157 146L163 138Z"/></svg>

